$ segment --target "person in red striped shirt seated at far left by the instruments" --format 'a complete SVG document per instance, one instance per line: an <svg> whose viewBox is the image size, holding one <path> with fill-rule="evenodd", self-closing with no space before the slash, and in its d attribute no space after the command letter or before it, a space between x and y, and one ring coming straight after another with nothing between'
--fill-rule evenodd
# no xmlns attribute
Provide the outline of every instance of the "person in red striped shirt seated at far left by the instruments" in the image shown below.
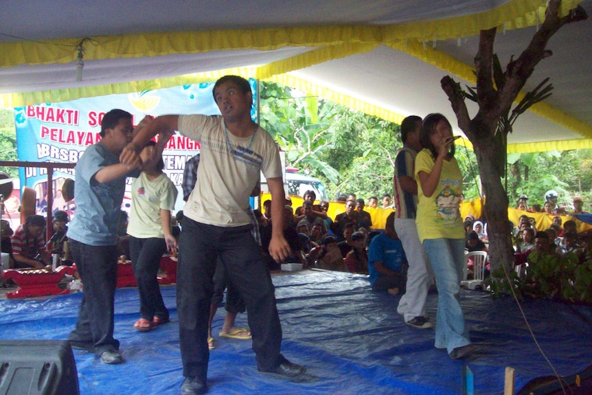
<svg viewBox="0 0 592 395"><path fill-rule="evenodd" d="M24 225L12 235L12 256L16 269L46 269L52 266L52 257L45 251L43 240L45 218L41 215L27 216Z"/></svg>

